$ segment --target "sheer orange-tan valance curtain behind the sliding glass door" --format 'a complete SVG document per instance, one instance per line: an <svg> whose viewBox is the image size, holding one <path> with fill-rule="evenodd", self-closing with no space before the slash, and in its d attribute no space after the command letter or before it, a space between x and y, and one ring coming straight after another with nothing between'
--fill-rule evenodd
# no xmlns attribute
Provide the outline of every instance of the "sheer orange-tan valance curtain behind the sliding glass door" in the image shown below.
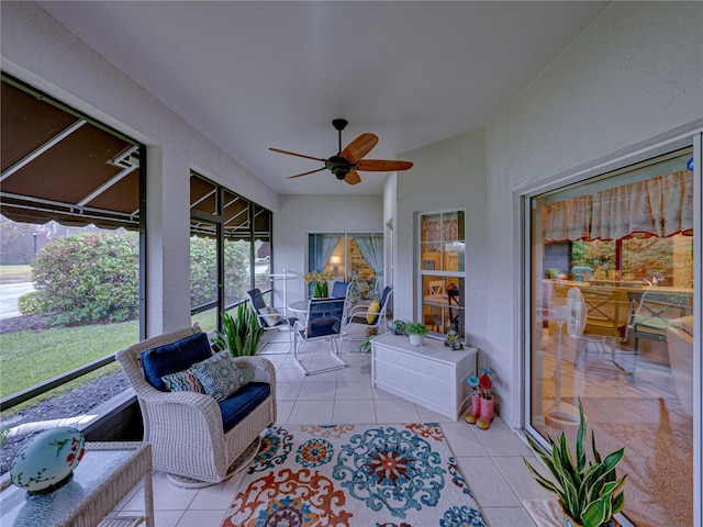
<svg viewBox="0 0 703 527"><path fill-rule="evenodd" d="M693 234L693 172L681 170L545 205L544 240Z"/></svg>

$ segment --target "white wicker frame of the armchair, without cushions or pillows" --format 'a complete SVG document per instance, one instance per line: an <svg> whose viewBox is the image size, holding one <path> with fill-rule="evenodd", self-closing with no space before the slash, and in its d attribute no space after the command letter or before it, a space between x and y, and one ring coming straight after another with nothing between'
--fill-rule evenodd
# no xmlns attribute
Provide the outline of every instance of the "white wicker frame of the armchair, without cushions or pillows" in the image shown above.
<svg viewBox="0 0 703 527"><path fill-rule="evenodd" d="M145 378L140 363L144 350L200 333L196 325L148 338L115 354L134 388L144 421L144 440L152 444L154 468L178 486L198 487L232 476L243 453L256 453L259 434L276 422L276 370L263 357L233 360L254 365L254 381L270 385L270 394L241 422L224 431L223 415L211 396L194 392L161 392ZM252 447L252 448L247 448Z"/></svg>

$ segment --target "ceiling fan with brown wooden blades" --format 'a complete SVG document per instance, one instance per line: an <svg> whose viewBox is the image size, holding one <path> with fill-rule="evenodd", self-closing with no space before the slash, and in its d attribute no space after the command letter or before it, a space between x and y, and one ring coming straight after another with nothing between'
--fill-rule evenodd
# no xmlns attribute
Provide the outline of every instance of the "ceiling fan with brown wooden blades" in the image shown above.
<svg viewBox="0 0 703 527"><path fill-rule="evenodd" d="M356 139L342 149L342 131L346 128L348 122L346 119L335 119L332 121L332 125L339 132L339 150L335 156L328 159L322 159L319 157L305 156L303 154L295 154L294 152L281 150L279 148L270 148L271 152L278 152L279 154L287 154L289 156L304 157L305 159L313 159L315 161L322 161L324 167L309 172L297 173L295 176L289 176L291 178L300 178L302 176L309 176L311 173L320 172L325 168L330 170L339 180L343 180L349 184L357 184L361 182L361 178L357 170L367 170L372 172L389 172L397 170L408 170L412 168L413 164L410 161L391 161L384 159L362 159L378 143L378 137L373 134L361 134Z"/></svg>

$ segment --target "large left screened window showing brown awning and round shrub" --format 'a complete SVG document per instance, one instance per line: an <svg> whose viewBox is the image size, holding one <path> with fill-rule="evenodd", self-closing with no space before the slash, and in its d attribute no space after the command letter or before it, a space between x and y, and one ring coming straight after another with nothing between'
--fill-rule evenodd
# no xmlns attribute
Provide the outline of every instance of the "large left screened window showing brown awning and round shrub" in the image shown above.
<svg viewBox="0 0 703 527"><path fill-rule="evenodd" d="M142 145L46 93L3 74L0 101L5 472L31 438L20 425L124 391L112 355L144 337L146 176ZM104 389L79 407L45 401L98 378Z"/></svg>

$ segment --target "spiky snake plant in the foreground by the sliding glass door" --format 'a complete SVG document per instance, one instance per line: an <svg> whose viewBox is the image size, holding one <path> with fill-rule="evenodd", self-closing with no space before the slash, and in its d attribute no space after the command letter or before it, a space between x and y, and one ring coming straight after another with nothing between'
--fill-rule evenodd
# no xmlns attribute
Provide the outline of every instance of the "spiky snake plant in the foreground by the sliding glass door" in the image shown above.
<svg viewBox="0 0 703 527"><path fill-rule="evenodd" d="M595 449L595 435L591 430L591 450L593 460L587 460L583 446L585 438L585 415L579 399L580 424L576 437L576 460L571 456L563 431L558 442L548 437L550 452L543 452L540 447L527 436L527 442L533 451L545 463L554 481L545 479L523 457L527 470L537 483L549 492L559 496L563 513L563 525L601 527L614 525L613 516L625 506L623 486L627 474L617 478L615 467L625 455L621 448L601 458Z"/></svg>

